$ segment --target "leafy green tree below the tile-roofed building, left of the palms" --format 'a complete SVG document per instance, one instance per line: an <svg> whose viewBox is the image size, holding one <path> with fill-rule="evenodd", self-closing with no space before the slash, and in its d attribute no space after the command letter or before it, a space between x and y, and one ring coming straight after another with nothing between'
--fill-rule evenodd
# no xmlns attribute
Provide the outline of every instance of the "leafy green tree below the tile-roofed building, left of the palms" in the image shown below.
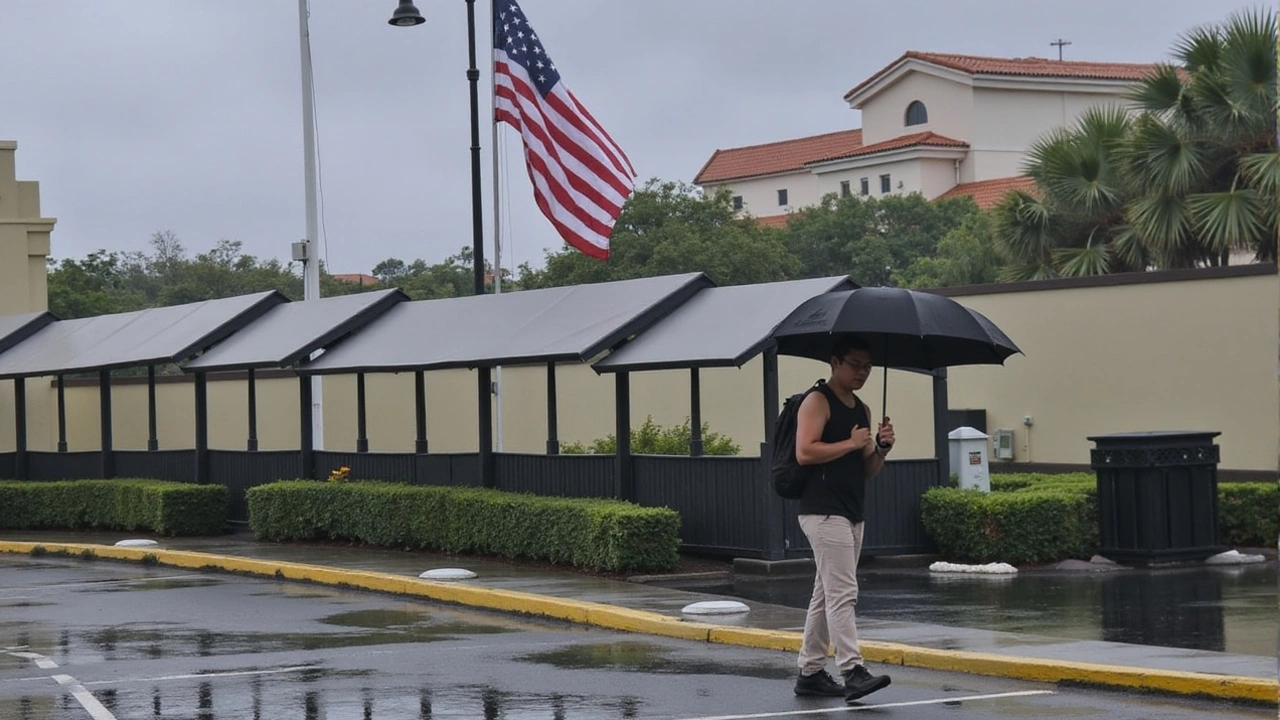
<svg viewBox="0 0 1280 720"><path fill-rule="evenodd" d="M918 192L887 197L827 195L787 223L787 249L797 277L850 275L863 286L884 286L938 241L978 213L969 197L925 200Z"/></svg>

